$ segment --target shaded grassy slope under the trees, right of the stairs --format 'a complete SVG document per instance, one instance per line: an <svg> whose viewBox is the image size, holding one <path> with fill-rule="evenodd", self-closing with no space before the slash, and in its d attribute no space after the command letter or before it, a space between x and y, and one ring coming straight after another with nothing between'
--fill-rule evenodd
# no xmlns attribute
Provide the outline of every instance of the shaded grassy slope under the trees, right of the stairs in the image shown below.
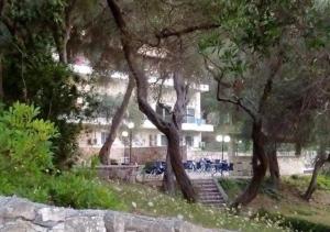
<svg viewBox="0 0 330 232"><path fill-rule="evenodd" d="M285 177L278 192L271 191L267 185L262 188L262 194L249 206L248 211L255 212L265 209L279 212L284 216L308 220L315 223L330 225L330 177L320 176L319 189L312 199L306 202L301 194L308 186L309 177ZM231 199L234 199L246 185L246 180L220 180Z"/></svg>

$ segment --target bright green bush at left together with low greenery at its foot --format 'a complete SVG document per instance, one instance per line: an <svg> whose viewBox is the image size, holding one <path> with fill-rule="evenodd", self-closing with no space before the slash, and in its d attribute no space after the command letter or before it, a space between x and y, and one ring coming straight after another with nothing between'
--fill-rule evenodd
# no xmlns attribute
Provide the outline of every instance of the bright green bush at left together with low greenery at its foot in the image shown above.
<svg viewBox="0 0 330 232"><path fill-rule="evenodd" d="M37 114L38 108L21 103L0 113L0 194L63 207L123 208L95 172L61 173L53 167L51 139L57 132Z"/></svg>

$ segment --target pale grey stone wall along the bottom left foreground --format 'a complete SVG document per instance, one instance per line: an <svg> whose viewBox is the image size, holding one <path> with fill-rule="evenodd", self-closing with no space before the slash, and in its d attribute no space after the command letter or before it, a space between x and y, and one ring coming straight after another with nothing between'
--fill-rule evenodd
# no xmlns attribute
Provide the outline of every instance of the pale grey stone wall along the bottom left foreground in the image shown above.
<svg viewBox="0 0 330 232"><path fill-rule="evenodd" d="M0 197L0 232L216 232L179 219L110 210L75 210Z"/></svg>

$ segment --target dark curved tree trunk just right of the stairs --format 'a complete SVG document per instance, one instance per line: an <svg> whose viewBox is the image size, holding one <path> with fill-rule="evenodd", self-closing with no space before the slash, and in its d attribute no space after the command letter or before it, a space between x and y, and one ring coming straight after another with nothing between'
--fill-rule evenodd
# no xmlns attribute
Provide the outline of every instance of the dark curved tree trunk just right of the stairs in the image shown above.
<svg viewBox="0 0 330 232"><path fill-rule="evenodd" d="M267 155L265 154L265 141L264 134L262 133L262 123L254 122L252 129L252 141L253 141L253 154L252 154L252 179L245 189L245 191L234 201L233 207L240 205L246 206L257 195L260 186L266 175L267 170Z"/></svg>

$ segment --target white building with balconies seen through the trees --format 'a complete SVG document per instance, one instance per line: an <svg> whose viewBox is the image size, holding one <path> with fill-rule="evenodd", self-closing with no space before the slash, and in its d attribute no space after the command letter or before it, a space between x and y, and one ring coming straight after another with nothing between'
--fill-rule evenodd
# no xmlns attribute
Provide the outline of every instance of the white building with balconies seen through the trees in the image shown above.
<svg viewBox="0 0 330 232"><path fill-rule="evenodd" d="M81 62L73 66L74 70L80 74L91 73L91 68L88 64ZM155 82L156 77L150 77L150 82ZM109 81L102 82L101 86L95 88L100 95L118 96L124 95L128 85L128 76L122 73L112 73ZM213 132L213 125L207 124L202 119L200 109L200 96L201 92L208 91L207 85L193 85L189 89L189 102L187 106L187 115L185 117L183 129L183 145L188 151L200 151L204 146L202 133ZM166 117L165 109L157 108L154 99L150 98L150 103L153 109ZM173 108L176 100L176 95L173 89L173 80L168 79L163 84L162 103ZM98 117L90 121L84 121L84 130L79 136L79 147L84 153L97 154L105 143L109 133L111 119ZM121 134L113 143L111 151L111 158L123 157L124 143ZM133 147L161 147L166 145L166 137L162 134L147 119L145 119L142 125L134 130L132 137Z"/></svg>

